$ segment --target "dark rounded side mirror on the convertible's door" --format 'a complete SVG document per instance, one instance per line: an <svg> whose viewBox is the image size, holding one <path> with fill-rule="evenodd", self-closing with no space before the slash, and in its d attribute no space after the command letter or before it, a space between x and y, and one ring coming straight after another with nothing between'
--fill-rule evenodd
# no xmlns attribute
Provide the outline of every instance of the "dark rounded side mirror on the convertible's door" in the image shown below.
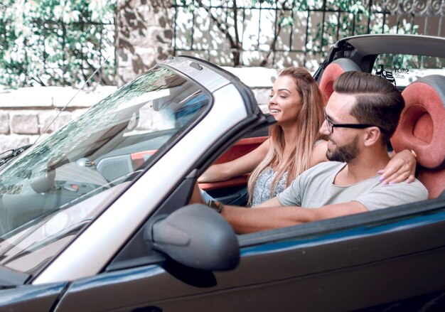
<svg viewBox="0 0 445 312"><path fill-rule="evenodd" d="M193 204L160 216L145 229L145 240L168 257L195 269L225 271L240 262L237 236L223 216Z"/></svg>

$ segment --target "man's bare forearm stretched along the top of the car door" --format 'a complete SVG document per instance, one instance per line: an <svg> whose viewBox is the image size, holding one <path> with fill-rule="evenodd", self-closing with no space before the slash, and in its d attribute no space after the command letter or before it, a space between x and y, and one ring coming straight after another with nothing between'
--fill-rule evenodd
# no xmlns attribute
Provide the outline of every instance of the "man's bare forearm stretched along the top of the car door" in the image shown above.
<svg viewBox="0 0 445 312"><path fill-rule="evenodd" d="M269 203L277 198L272 198ZM278 200L277 200L278 202ZM279 202L278 202L279 203ZM302 208L298 206L263 206L261 209L240 208L224 205L222 215L232 225L235 232L245 234L264 230L272 230L279 227L289 227L304 222L324 220L342 215L365 213L368 209L364 205L351 201L325 205L321 208Z"/></svg>

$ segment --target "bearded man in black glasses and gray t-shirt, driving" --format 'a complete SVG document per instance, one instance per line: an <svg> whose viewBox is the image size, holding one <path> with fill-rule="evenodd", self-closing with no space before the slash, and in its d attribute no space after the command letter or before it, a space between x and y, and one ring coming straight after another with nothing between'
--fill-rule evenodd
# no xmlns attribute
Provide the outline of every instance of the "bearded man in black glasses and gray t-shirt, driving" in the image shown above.
<svg viewBox="0 0 445 312"><path fill-rule="evenodd" d="M220 213L236 232L269 230L427 199L427 189L417 180L384 185L376 175L390 160L387 142L404 107L400 92L387 80L365 72L345 72L333 89L320 129L328 137L330 161L305 171L283 193L256 208L220 206Z"/></svg>

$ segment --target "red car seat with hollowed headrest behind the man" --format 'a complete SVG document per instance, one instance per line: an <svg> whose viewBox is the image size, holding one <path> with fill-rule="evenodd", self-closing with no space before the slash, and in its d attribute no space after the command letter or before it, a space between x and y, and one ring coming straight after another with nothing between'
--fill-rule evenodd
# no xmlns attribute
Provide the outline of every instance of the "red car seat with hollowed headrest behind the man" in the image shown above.
<svg viewBox="0 0 445 312"><path fill-rule="evenodd" d="M445 189L445 76L419 78L402 96L405 107L391 144L417 154L417 178L436 198Z"/></svg>

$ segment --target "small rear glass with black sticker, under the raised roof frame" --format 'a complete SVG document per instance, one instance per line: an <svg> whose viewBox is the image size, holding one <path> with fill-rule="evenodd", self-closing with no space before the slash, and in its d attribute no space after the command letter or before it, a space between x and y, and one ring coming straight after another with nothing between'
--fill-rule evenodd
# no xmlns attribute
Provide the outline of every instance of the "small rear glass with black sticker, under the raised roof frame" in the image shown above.
<svg viewBox="0 0 445 312"><path fill-rule="evenodd" d="M445 75L445 58L424 55L380 54L372 74L385 77L403 89L409 83L427 75Z"/></svg>

